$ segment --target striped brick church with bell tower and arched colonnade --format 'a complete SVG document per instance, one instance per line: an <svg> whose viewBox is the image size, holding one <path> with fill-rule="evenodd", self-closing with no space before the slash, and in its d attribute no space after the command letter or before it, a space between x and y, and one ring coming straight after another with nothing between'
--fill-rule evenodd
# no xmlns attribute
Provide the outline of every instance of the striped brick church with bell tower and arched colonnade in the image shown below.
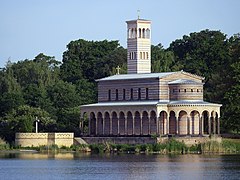
<svg viewBox="0 0 240 180"><path fill-rule="evenodd" d="M151 21L127 21L127 74L97 80L98 103L81 106L92 137L220 134L220 104L203 100L204 77L151 73Z"/></svg>

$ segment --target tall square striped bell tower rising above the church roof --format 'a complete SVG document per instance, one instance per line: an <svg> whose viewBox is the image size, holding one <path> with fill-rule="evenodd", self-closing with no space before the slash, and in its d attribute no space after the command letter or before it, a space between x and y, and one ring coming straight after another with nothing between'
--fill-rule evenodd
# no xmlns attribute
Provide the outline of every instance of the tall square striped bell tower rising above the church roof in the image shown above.
<svg viewBox="0 0 240 180"><path fill-rule="evenodd" d="M151 21L138 18L126 23L128 74L151 73Z"/></svg>

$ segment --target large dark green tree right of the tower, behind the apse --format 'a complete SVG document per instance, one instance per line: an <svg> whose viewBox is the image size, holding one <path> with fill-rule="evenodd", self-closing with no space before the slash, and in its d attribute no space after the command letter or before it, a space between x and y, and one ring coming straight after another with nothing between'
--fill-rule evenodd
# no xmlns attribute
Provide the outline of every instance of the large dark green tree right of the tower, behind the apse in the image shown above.
<svg viewBox="0 0 240 180"><path fill-rule="evenodd" d="M225 77L229 66L229 43L220 31L203 30L183 36L170 44L176 61L187 72L204 76L205 98L221 103L226 89Z"/></svg>

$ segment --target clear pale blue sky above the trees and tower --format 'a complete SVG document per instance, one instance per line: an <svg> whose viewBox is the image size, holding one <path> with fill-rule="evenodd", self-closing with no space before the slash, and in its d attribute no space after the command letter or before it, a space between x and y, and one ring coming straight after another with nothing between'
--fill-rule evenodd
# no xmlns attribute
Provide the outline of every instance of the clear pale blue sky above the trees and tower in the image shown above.
<svg viewBox="0 0 240 180"><path fill-rule="evenodd" d="M39 53L59 61L70 41L119 40L127 20L152 21L152 44L165 48L204 29L240 32L239 0L0 0L0 68Z"/></svg>

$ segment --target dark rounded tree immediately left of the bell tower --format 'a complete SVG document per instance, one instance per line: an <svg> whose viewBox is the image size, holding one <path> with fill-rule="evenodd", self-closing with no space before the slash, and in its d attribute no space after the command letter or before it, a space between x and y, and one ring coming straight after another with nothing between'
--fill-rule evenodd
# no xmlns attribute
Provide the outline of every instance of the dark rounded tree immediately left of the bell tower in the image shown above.
<svg viewBox="0 0 240 180"><path fill-rule="evenodd" d="M109 75L113 64L108 60L118 48L122 50L118 41L71 41L63 53L62 79L75 83L79 79L94 81Z"/></svg>

